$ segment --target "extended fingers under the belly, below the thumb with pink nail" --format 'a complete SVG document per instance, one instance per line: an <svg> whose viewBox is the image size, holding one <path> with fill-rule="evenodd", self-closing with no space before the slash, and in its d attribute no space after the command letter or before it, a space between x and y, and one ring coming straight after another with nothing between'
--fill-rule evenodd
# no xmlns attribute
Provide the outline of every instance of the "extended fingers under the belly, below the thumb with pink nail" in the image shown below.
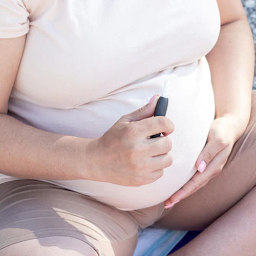
<svg viewBox="0 0 256 256"><path fill-rule="evenodd" d="M172 202L185 199L189 195L195 193L201 187L205 186L212 178L217 176L223 166L226 163L227 157L230 153L229 148L225 148L219 154L215 156L212 161L207 165L205 172L197 172L182 188L180 188L175 194L173 194L169 199L164 202L167 206Z"/></svg>

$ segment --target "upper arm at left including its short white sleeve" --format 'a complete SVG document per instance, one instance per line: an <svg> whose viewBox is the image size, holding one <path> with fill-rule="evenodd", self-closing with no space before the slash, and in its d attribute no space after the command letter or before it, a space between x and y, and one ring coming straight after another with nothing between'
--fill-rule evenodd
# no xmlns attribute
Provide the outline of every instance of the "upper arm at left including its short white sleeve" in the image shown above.
<svg viewBox="0 0 256 256"><path fill-rule="evenodd" d="M0 113L8 111L28 31L29 12L25 2L0 0Z"/></svg>

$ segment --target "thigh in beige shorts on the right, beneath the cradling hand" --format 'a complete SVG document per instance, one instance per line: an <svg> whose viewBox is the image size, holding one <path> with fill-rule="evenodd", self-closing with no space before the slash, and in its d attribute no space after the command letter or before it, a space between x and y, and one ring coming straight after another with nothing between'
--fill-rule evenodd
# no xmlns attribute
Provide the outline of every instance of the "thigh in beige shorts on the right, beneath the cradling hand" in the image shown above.
<svg viewBox="0 0 256 256"><path fill-rule="evenodd" d="M152 227L204 229L242 199L256 184L256 91L247 128L234 144L222 172L204 187L164 209Z"/></svg>

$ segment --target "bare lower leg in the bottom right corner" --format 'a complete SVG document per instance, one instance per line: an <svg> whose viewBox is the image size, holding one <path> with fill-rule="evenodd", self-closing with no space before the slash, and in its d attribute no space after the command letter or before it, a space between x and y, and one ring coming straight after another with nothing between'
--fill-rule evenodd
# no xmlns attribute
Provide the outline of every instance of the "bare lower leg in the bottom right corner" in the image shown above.
<svg viewBox="0 0 256 256"><path fill-rule="evenodd" d="M173 256L255 255L256 188ZM218 248L218 249L217 249Z"/></svg>

